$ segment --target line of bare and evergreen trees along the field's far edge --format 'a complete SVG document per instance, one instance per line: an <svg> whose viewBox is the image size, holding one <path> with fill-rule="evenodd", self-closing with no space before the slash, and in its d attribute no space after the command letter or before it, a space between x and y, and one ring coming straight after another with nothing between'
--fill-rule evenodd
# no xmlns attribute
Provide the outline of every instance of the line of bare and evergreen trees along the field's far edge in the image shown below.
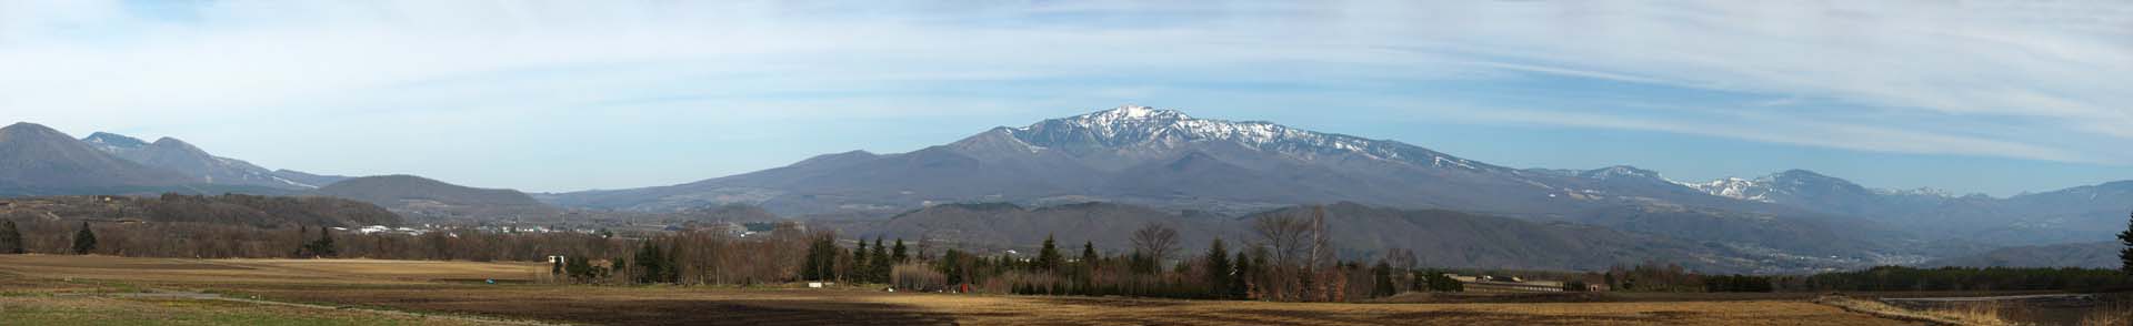
<svg viewBox="0 0 2133 326"><path fill-rule="evenodd" d="M166 196L154 205L113 207L245 207L279 202L250 196ZM316 202L314 202L316 205ZM271 207L271 205L264 205ZM318 205L339 211L339 205ZM186 209L179 209L186 211ZM211 209L209 209L211 211ZM363 209L356 209L363 211ZM565 256L550 273L580 283L872 283L928 292L1162 296L1233 300L1340 303L1399 292L1459 292L1448 271L1421 268L1414 254L1389 249L1376 262L1335 260L1322 211L1254 219L1250 239L1214 239L1207 251L1177 254L1180 234L1148 224L1124 251L1081 243L1077 251L1049 237L1035 254L932 254L930 241L840 239L776 224L761 237L719 230L646 232L484 232L444 228L424 234L363 234L326 226L247 226L224 222L70 222L21 211L0 215L0 254L107 254L154 258L382 258L382 260L520 260ZM2133 247L2133 219L2120 234ZM849 243L849 245L847 245ZM2133 249L2127 251L2133 256ZM2133 260L2129 260L2133 262ZM1875 266L1819 275L1698 275L1681 264L1645 262L1600 273L1561 273L1563 290L1587 283L1617 292L1905 292L1905 290L2127 290L2133 266L2110 268L1913 268Z"/></svg>

